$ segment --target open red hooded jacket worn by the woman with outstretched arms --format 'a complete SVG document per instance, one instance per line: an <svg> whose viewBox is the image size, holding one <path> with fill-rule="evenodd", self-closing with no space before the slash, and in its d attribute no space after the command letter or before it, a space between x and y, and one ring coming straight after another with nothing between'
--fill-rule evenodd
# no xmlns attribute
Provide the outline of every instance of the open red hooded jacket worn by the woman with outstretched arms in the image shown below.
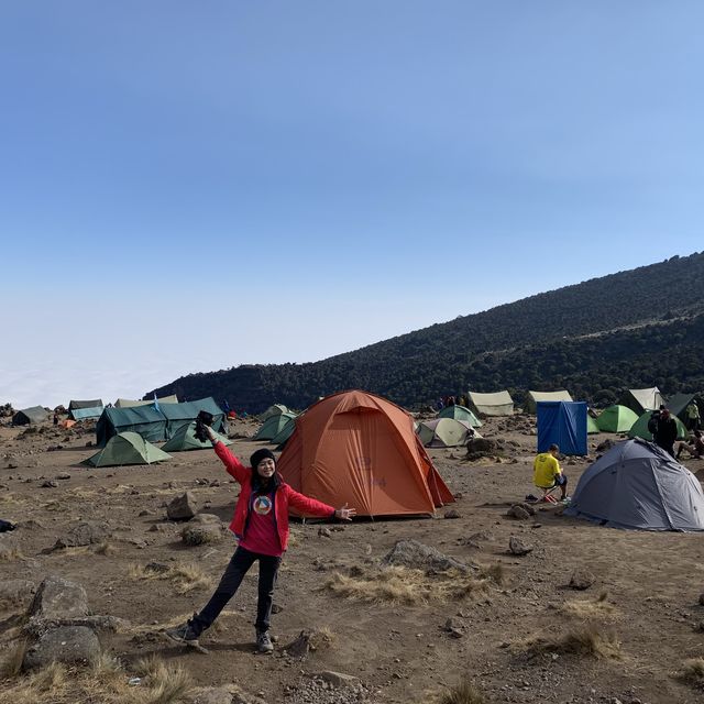
<svg viewBox="0 0 704 704"><path fill-rule="evenodd" d="M233 476L242 487L238 503L234 507L234 516L230 524L230 530L238 537L244 536L246 528L246 521L250 510L250 496L252 495L252 472L238 460L232 452L222 442L217 442L213 446L216 453L222 460L228 474ZM308 514L310 516L320 516L321 518L332 518L334 516L334 508L318 502L315 498L309 498L304 494L299 494L293 490L286 482L282 482L276 488L274 495L274 522L278 532L278 539L282 543L282 550L286 550L288 546L288 505L292 505L296 510L301 514Z"/></svg>

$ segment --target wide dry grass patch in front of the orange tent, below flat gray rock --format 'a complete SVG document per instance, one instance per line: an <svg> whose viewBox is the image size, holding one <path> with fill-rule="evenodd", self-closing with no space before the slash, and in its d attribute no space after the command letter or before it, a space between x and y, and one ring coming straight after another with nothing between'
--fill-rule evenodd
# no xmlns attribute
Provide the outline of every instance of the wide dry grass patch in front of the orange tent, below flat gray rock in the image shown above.
<svg viewBox="0 0 704 704"><path fill-rule="evenodd" d="M420 570L391 566L370 573L354 568L351 575L333 572L322 588L361 602L413 606L465 598L484 592L486 586L487 580L477 580L455 570L429 576Z"/></svg>

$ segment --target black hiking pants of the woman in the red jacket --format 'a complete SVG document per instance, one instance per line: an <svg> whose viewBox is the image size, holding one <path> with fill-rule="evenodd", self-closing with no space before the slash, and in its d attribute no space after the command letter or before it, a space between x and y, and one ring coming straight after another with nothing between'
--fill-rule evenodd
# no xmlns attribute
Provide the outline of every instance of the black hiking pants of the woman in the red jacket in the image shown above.
<svg viewBox="0 0 704 704"><path fill-rule="evenodd" d="M272 616L272 602L274 600L274 585L276 584L276 574L282 558L275 558L268 554L260 554L250 552L244 548L238 548L230 559L224 574L220 579L220 584L205 605L199 614L194 616L191 626L200 635L206 628L210 628L226 604L234 596L244 575L250 568L258 560L260 562L260 581L258 581L258 600L256 604L256 630L268 630L270 618Z"/></svg>

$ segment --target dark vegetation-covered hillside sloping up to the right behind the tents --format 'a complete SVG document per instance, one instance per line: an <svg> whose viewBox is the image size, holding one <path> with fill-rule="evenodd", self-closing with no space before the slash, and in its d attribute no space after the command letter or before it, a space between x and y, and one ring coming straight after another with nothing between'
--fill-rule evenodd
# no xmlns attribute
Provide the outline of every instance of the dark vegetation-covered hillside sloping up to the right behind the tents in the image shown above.
<svg viewBox="0 0 704 704"><path fill-rule="evenodd" d="M469 301L468 301L469 302ZM704 389L704 253L594 278L307 364L190 374L157 395L260 413L363 388L419 407L439 395L566 388L603 406L624 388ZM146 397L152 397L148 392Z"/></svg>

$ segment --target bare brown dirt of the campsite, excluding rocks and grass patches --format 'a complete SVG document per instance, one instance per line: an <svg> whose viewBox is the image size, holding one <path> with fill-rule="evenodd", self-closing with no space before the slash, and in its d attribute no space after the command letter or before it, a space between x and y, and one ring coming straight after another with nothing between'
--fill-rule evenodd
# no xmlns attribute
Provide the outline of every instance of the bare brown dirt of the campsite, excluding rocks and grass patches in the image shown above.
<svg viewBox="0 0 704 704"><path fill-rule="evenodd" d="M278 640L272 657L254 653L255 569L221 616L220 628L201 638L209 654L160 636L205 604L235 547L231 536L186 547L183 526L166 520L165 505L188 490L202 512L229 522L238 487L211 450L175 453L161 465L97 470L78 464L95 452L86 447L95 441L90 432L46 426L22 436L22 429L1 426L0 518L19 524L11 534L19 554L0 562L2 580L38 585L57 574L85 586L95 614L129 620L124 632L100 636L124 664L125 676L138 659L156 653L183 664L198 685L235 683L267 702L348 701L328 690L316 700L306 689L311 674L326 670L360 678L365 701L380 704L429 702L464 678L487 703L701 702L702 690L678 673L685 660L704 656L704 606L698 605L704 538L608 529L563 517L559 507L547 505L525 520L507 517L512 504L535 491L536 437L526 422L526 417L493 419L482 428L484 437L516 443L501 460L470 463L463 449L429 450L458 496L447 507L458 512L457 518L446 518L447 508L440 508L435 518L361 519L322 535L320 524L294 524L274 600L272 632ZM231 432L254 429L240 422ZM618 439L590 436L590 458L564 460L572 490L607 437ZM238 438L232 450L246 461L263 444ZM704 476L704 461L685 464ZM42 486L47 480L55 486ZM109 521L107 542L51 550L72 526L89 519ZM510 536L532 551L509 553ZM410 605L366 603L324 586L336 571L373 573L395 542L408 538L501 572L503 579L464 598ZM151 562L196 565L209 583L182 594L174 581L142 579L140 568ZM576 569L596 578L588 590L568 587ZM573 615L574 602L587 603L593 632L620 644L618 657L535 646L550 638L559 644L585 629L584 618ZM3 608L0 658L13 647L9 634L19 612ZM323 629L329 642L302 660L286 657L284 647L302 629ZM0 683L1 702L12 700L15 684L16 678ZM41 701L55 700L46 692Z"/></svg>

